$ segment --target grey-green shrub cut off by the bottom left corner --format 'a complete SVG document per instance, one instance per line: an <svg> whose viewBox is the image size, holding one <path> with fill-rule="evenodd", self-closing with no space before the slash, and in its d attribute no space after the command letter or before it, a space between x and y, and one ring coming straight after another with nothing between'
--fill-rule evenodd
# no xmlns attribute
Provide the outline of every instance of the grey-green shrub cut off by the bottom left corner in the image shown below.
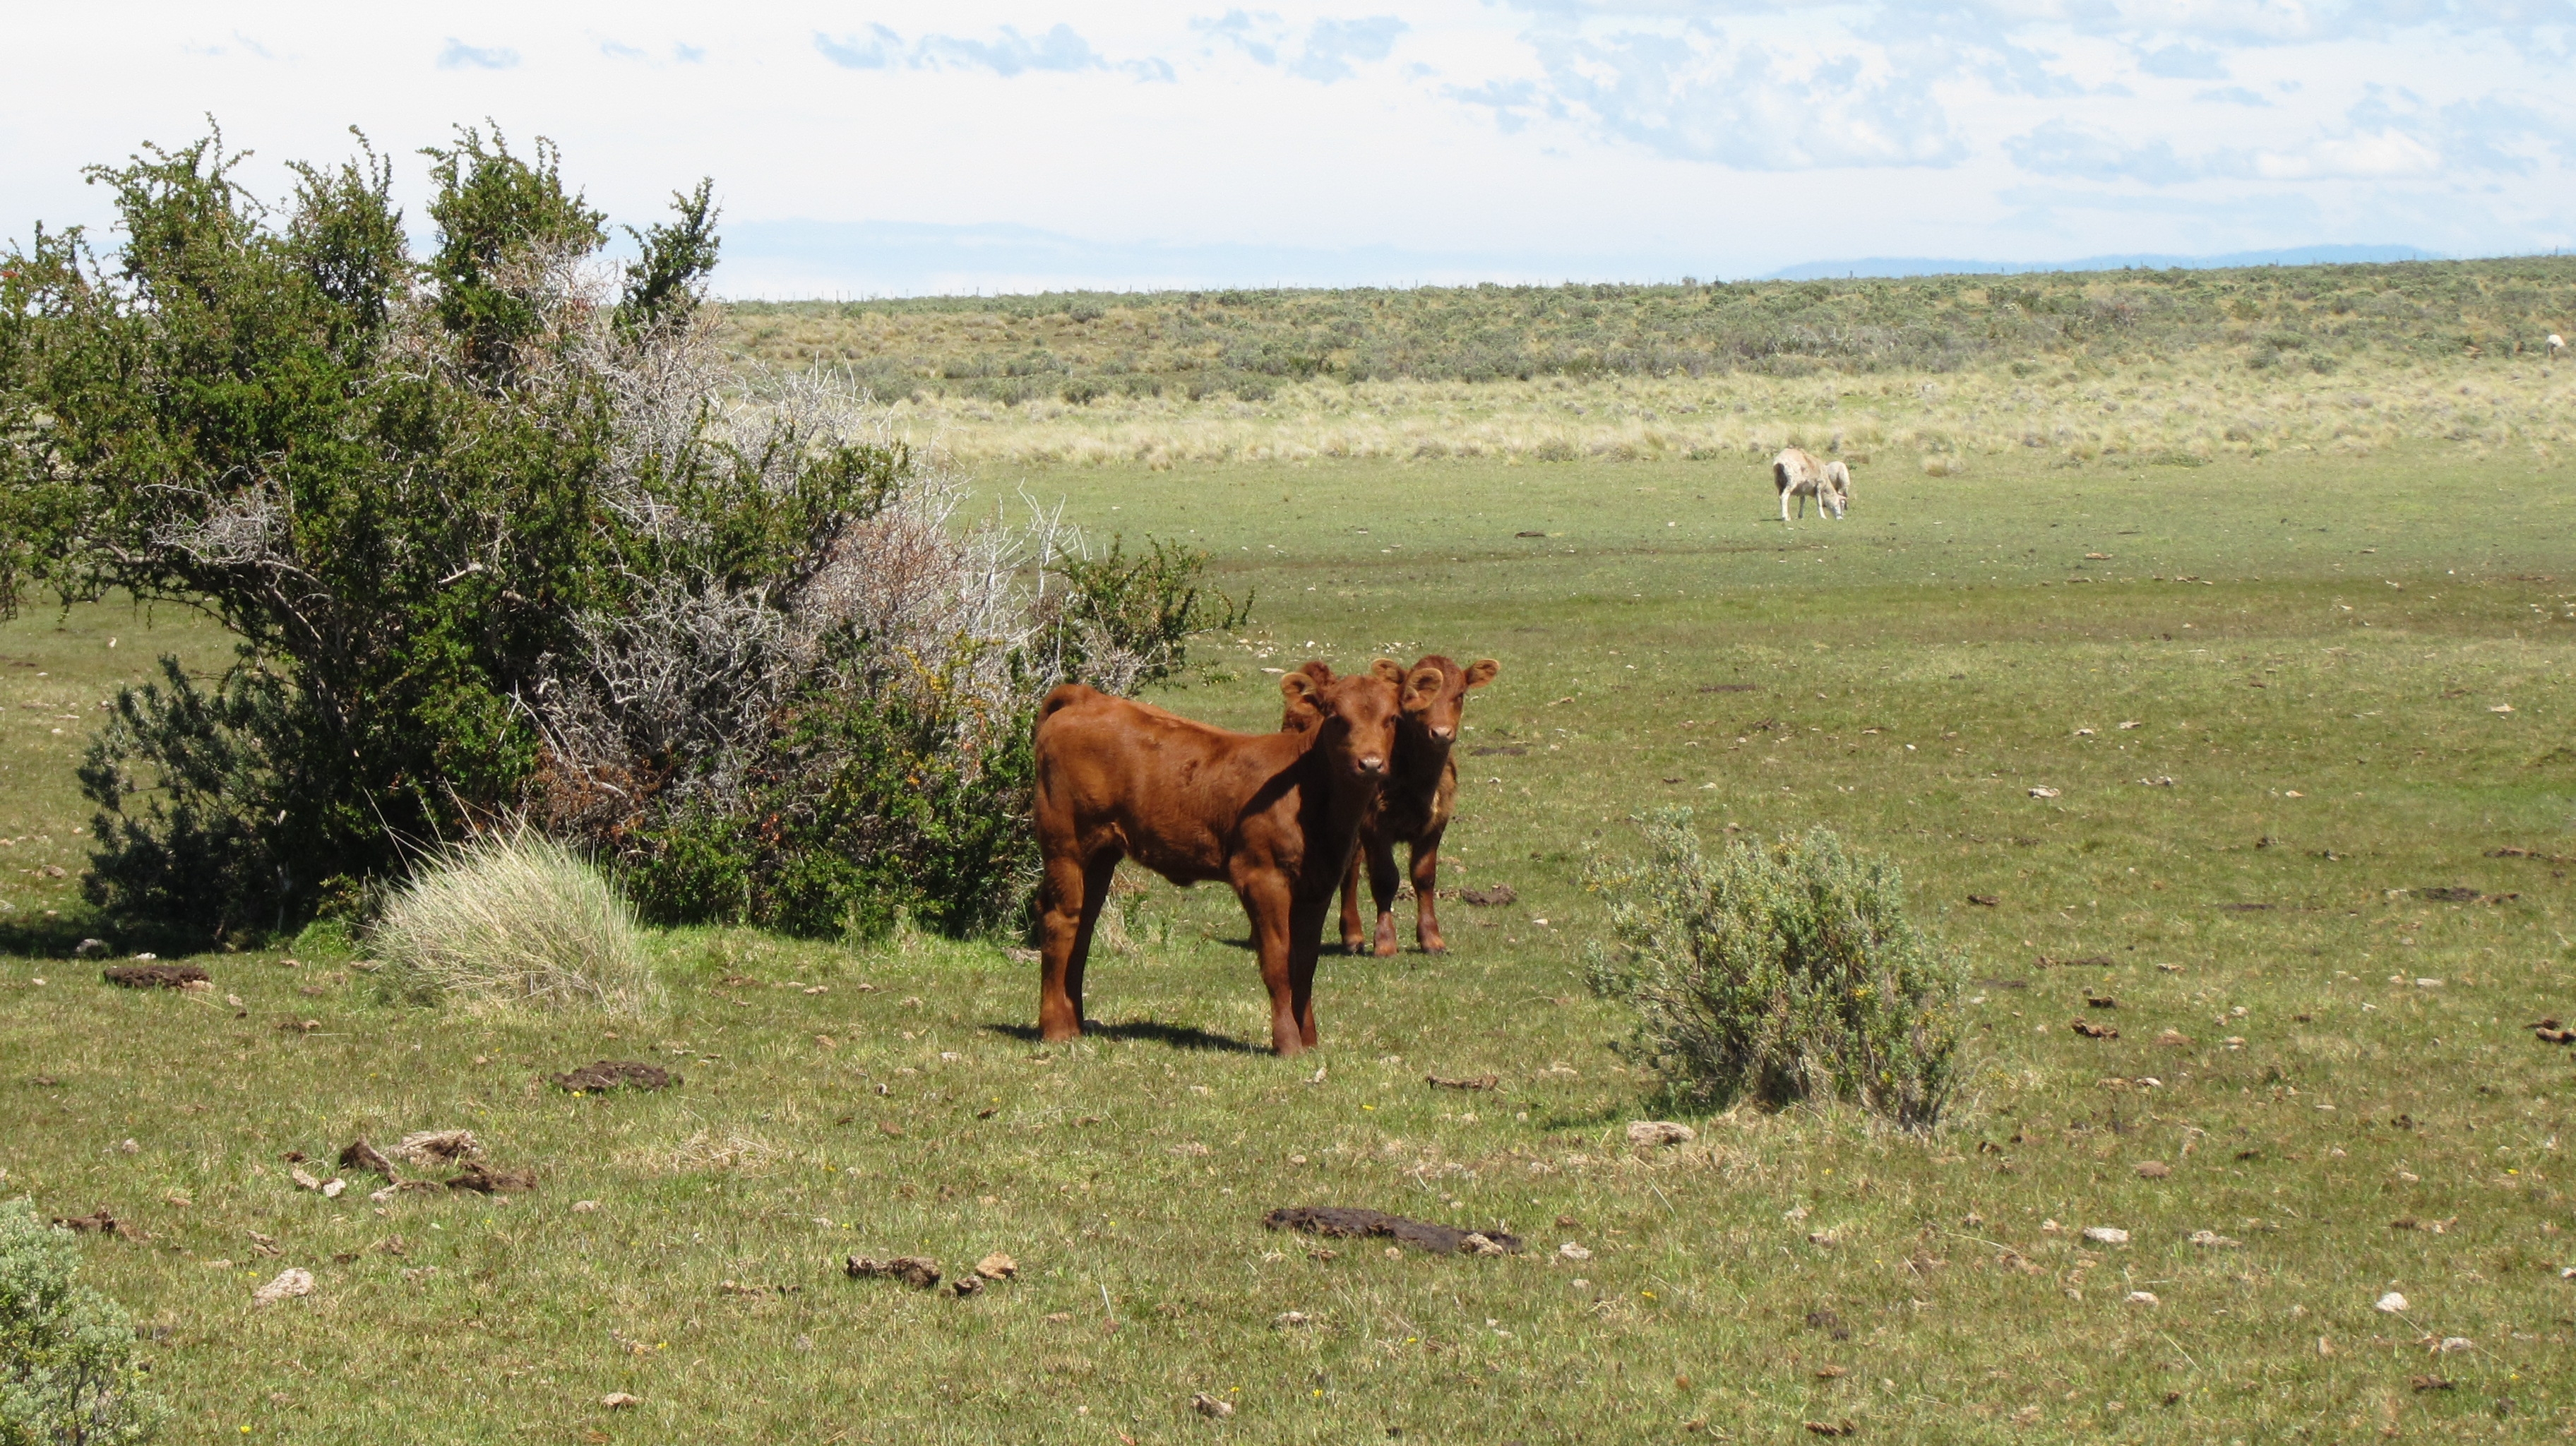
<svg viewBox="0 0 2576 1446"><path fill-rule="evenodd" d="M142 1389L126 1309L77 1276L70 1229L0 1204L0 1446L144 1441L170 1415Z"/></svg>

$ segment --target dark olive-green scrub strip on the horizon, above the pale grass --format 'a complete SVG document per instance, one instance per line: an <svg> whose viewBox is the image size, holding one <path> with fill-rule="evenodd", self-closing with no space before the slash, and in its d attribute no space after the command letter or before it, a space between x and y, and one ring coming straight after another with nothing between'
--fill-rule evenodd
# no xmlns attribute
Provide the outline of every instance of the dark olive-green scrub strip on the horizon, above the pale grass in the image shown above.
<svg viewBox="0 0 2576 1446"><path fill-rule="evenodd" d="M2226 348L2331 371L2354 356L2535 351L2576 317L2576 258L2063 271L1901 281L1066 291L742 302L734 343L848 366L884 397L1265 400L1285 381L1530 381L1960 371Z"/></svg>

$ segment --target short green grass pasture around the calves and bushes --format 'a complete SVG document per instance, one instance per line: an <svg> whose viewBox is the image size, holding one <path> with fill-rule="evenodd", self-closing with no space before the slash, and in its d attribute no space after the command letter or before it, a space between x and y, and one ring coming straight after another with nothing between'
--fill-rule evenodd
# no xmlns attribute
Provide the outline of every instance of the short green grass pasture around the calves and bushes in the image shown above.
<svg viewBox="0 0 2576 1446"><path fill-rule="evenodd" d="M108 990L62 956L85 719L224 642L28 613L0 626L0 1193L144 1232L90 1237L88 1276L155 1327L175 1441L2561 1436L2576 1077L2522 1028L2576 1016L2553 477L2442 448L1886 467L1850 521L1783 528L1749 461L987 474L1257 593L1180 711L1273 727L1267 670L1314 655L1502 660L1445 882L1520 902L1445 905L1443 959L1327 959L1293 1065L1255 1049L1231 897L1159 882L1072 1049L1033 1044L1033 964L925 938L670 933L647 1028L394 1008L325 949ZM1659 807L1901 861L1976 961L1953 1124L1741 1111L1625 1144L1662 1111L1579 982L1579 871ZM685 1085L538 1080L600 1057ZM538 1186L289 1178L433 1126ZM1530 1248L1262 1229L1288 1204ZM840 1273L987 1250L1020 1278L976 1299ZM252 1304L286 1266L317 1291Z"/></svg>

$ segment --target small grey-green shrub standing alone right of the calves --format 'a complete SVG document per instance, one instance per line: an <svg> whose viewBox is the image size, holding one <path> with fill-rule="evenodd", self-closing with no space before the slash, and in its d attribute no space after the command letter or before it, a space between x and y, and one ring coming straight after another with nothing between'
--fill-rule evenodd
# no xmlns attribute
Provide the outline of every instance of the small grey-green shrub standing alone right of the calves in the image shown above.
<svg viewBox="0 0 2576 1446"><path fill-rule="evenodd" d="M1587 876L1613 930L1587 974L1636 1005L1633 1052L1674 1098L1850 1101L1904 1129L1940 1121L1965 964L1906 923L1891 863L1821 827L1710 856L1687 809L1651 817L1646 845Z"/></svg>

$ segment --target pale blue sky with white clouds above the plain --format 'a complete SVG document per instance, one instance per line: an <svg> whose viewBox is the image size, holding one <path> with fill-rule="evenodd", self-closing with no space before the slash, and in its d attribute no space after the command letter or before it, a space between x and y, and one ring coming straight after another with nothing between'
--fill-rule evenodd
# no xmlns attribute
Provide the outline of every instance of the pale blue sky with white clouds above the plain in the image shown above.
<svg viewBox="0 0 2576 1446"><path fill-rule="evenodd" d="M0 237L209 113L714 175L737 296L2576 245L2576 0L28 5Z"/></svg>

